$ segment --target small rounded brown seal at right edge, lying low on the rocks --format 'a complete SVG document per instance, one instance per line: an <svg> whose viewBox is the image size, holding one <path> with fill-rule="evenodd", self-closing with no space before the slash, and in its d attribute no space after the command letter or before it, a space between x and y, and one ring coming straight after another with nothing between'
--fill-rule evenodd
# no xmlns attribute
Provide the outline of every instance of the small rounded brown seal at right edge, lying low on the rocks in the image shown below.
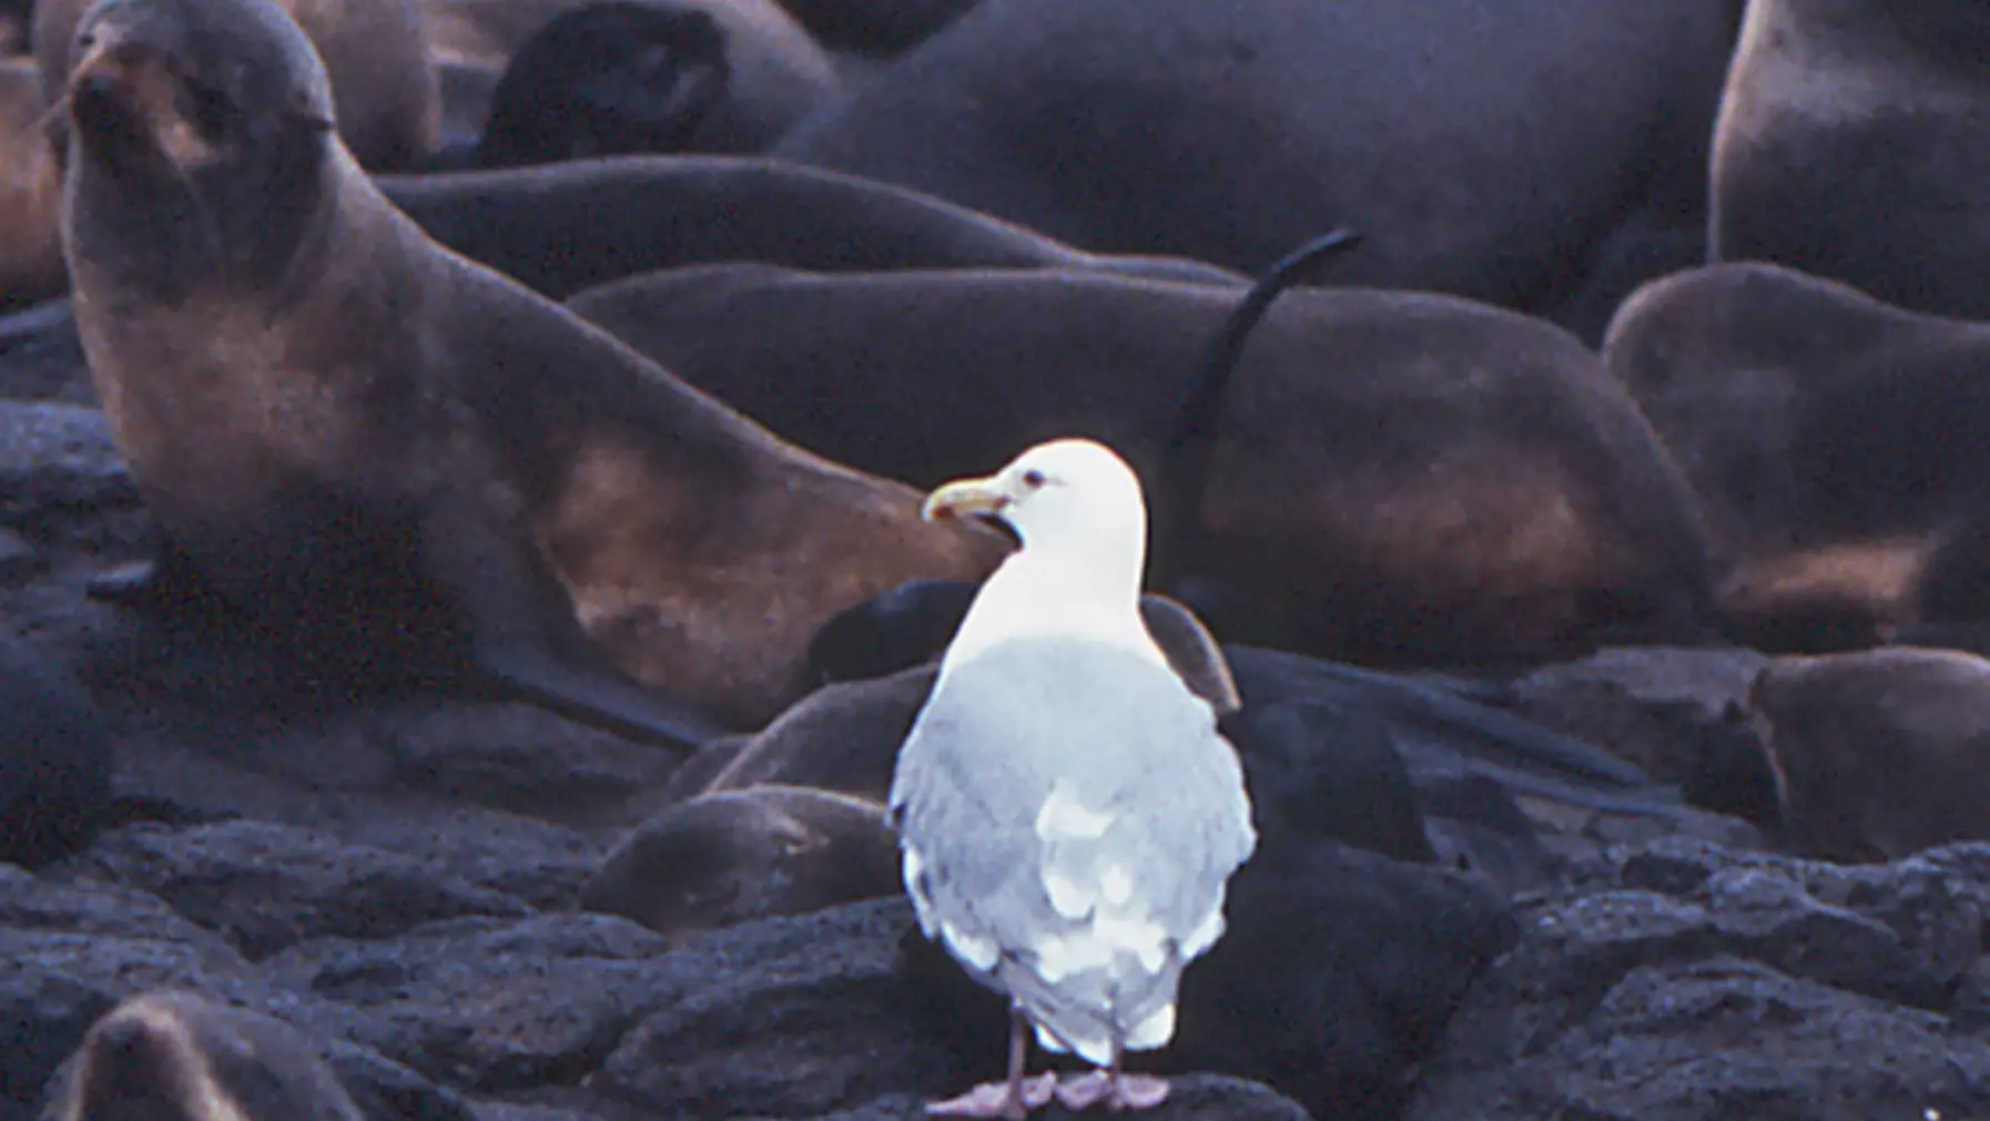
<svg viewBox="0 0 1990 1121"><path fill-rule="evenodd" d="M1797 853L1898 861L1990 839L1990 662L1904 646L1777 658L1749 710Z"/></svg>

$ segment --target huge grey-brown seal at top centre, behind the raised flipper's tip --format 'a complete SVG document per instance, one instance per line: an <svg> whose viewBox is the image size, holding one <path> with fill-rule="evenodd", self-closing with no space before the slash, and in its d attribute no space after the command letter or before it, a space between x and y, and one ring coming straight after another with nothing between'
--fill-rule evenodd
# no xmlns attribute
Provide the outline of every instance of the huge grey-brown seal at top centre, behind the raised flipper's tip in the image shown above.
<svg viewBox="0 0 1990 1121"><path fill-rule="evenodd" d="M1703 231L1737 16L1739 0L1003 0L774 153L1093 250L1246 272L1347 225L1371 242L1339 282L1546 312L1640 215Z"/></svg>

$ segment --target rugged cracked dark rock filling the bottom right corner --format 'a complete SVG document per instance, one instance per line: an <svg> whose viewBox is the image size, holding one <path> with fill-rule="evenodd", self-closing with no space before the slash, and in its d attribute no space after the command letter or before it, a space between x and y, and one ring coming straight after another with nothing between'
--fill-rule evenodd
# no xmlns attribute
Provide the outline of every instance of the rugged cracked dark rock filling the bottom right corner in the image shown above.
<svg viewBox="0 0 1990 1121"><path fill-rule="evenodd" d="M1952 1014L1986 873L1982 845L1869 869L1614 853L1532 906L1409 1117L1978 1117L1990 1040Z"/></svg>

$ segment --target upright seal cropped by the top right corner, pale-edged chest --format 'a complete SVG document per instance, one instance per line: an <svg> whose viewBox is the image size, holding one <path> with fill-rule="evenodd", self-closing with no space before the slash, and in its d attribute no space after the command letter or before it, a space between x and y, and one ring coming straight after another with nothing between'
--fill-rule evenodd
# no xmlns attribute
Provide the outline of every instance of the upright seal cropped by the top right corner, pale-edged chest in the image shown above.
<svg viewBox="0 0 1990 1121"><path fill-rule="evenodd" d="M1713 133L1711 260L1990 318L1990 8L1753 0Z"/></svg>

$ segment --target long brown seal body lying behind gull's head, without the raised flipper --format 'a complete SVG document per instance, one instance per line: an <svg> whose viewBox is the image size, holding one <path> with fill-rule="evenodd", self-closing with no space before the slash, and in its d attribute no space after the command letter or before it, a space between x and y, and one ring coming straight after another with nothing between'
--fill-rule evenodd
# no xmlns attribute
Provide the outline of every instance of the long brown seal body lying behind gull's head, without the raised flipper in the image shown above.
<svg viewBox="0 0 1990 1121"><path fill-rule="evenodd" d="M712 266L571 306L862 469L935 485L1087 435L1152 491L1236 290ZM1693 495L1568 334L1449 296L1299 290L1250 336L1226 398L1202 574L1270 604L1276 644L1431 664L1699 636Z"/></svg>

